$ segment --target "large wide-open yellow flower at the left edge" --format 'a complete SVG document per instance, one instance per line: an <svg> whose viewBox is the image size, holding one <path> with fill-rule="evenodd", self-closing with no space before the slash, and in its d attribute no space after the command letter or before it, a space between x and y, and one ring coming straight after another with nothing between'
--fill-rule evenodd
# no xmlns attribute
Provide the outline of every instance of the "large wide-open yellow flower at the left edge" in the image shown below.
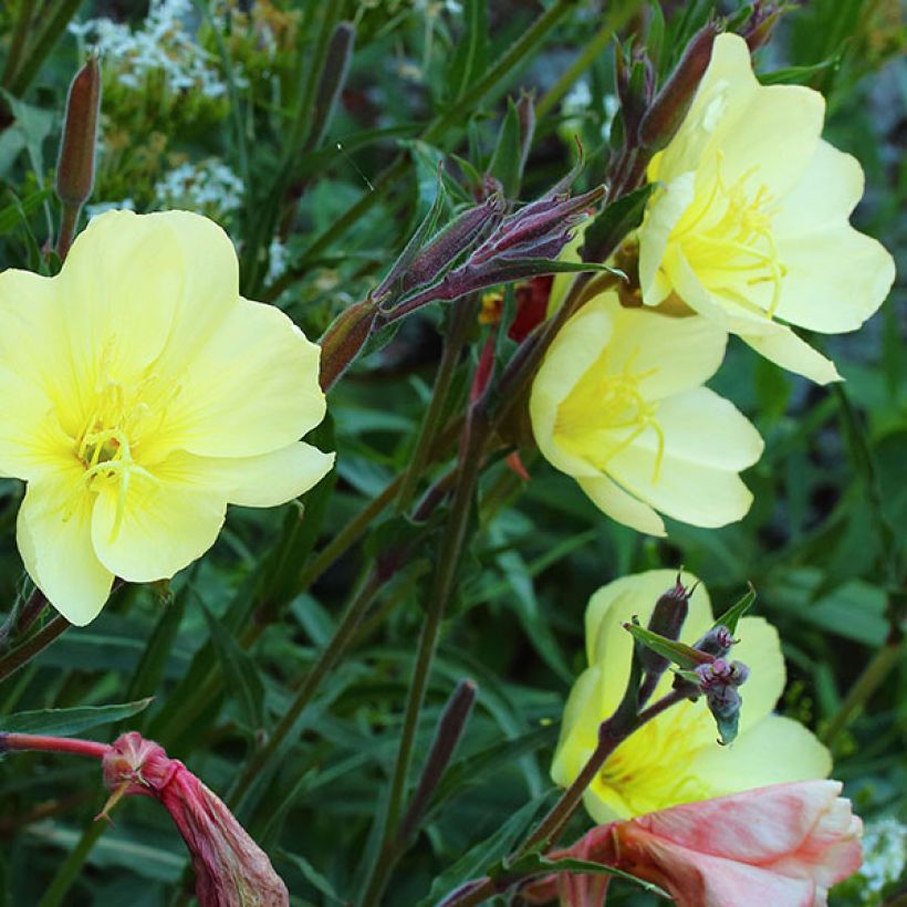
<svg viewBox="0 0 907 907"><path fill-rule="evenodd" d="M331 469L319 347L239 295L237 256L186 211L95 218L55 278L0 273L0 473L24 479L25 569L74 624L114 577L171 576L227 503L273 507Z"/></svg>

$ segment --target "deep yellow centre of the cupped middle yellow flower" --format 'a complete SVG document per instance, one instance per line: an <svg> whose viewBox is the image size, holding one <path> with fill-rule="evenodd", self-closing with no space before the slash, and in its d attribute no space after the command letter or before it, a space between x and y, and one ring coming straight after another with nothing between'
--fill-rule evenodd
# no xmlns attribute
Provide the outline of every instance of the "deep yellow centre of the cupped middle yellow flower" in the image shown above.
<svg viewBox="0 0 907 907"><path fill-rule="evenodd" d="M561 404L555 431L567 449L604 470L617 454L651 430L658 445L653 472L653 481L657 482L665 436L655 418L658 404L646 399L639 386L658 369L633 372L637 353L615 374L607 371L604 351Z"/></svg>

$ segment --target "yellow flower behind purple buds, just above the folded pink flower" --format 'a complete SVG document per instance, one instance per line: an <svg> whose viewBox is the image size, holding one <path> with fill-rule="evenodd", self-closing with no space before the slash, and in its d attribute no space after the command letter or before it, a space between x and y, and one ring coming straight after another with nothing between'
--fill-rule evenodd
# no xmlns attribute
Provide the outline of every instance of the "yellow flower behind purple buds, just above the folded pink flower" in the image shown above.
<svg viewBox="0 0 907 907"><path fill-rule="evenodd" d="M645 626L655 602L674 586L676 573L653 570L625 576L596 592L586 609L588 668L571 691L551 774L570 784L595 749L598 724L619 702L629 674L633 639L622 624L636 614ZM684 574L682 582L697 582ZM712 624L708 592L697 586L680 639L695 643ZM629 819L678 803L708 800L786 781L825 778L828 751L802 724L772 713L784 689L784 658L778 632L761 617L743 617L733 658L750 668L740 688L740 736L729 747L706 703L682 702L627 738L586 791L584 803L598 822ZM661 677L655 698L670 691ZM655 701L655 699L653 699Z"/></svg>

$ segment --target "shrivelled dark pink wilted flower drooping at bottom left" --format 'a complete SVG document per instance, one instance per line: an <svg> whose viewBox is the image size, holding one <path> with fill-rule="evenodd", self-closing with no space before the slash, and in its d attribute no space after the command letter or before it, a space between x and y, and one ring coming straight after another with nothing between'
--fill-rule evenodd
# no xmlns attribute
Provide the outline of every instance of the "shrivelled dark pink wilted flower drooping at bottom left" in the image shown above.
<svg viewBox="0 0 907 907"><path fill-rule="evenodd" d="M103 759L114 797L142 794L164 804L192 856L201 907L285 907L286 886L233 814L179 760L136 731Z"/></svg>

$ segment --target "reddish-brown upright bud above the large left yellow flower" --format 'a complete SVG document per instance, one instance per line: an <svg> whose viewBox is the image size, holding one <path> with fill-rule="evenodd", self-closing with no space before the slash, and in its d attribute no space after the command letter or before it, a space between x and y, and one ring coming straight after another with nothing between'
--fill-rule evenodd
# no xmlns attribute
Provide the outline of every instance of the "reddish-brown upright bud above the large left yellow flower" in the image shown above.
<svg viewBox="0 0 907 907"><path fill-rule="evenodd" d="M81 208L94 186L101 69L90 56L76 73L66 98L66 118L56 161L56 195L64 205Z"/></svg>

